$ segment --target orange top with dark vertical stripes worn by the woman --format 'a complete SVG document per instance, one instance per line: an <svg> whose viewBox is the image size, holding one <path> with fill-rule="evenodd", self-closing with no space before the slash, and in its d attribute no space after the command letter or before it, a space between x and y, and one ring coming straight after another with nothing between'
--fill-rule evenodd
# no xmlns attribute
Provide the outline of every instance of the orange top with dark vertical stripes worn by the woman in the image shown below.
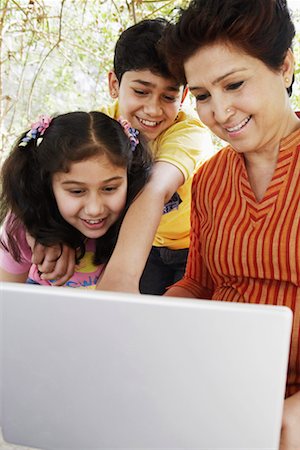
<svg viewBox="0 0 300 450"><path fill-rule="evenodd" d="M198 298L290 307L287 395L300 390L300 130L281 141L260 202L243 156L230 146L200 167L186 274L176 286Z"/></svg>

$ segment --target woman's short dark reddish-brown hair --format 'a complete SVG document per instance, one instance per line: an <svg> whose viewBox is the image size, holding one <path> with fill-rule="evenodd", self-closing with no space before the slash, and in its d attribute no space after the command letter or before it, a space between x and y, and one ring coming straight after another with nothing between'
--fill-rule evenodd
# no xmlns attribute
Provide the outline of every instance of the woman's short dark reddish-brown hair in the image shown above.
<svg viewBox="0 0 300 450"><path fill-rule="evenodd" d="M286 0L193 0L167 27L163 50L171 71L185 83L184 62L206 45L233 44L277 71L294 36Z"/></svg>

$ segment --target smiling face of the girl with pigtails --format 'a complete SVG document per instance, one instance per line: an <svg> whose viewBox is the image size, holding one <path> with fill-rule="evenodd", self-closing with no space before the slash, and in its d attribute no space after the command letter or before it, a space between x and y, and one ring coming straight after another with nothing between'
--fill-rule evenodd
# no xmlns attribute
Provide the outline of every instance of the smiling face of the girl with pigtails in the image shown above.
<svg viewBox="0 0 300 450"><path fill-rule="evenodd" d="M92 239L103 236L123 212L127 169L105 154L74 162L69 172L57 172L52 188L62 217Z"/></svg>

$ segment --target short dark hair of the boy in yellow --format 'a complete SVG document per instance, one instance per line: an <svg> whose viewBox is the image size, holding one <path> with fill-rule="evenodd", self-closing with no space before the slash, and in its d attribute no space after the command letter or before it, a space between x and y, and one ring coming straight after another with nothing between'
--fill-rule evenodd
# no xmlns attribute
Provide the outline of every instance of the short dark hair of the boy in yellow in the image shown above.
<svg viewBox="0 0 300 450"><path fill-rule="evenodd" d="M114 72L121 82L125 72L150 70L165 78L172 75L158 43L168 22L163 18L142 20L119 37L114 54Z"/></svg>

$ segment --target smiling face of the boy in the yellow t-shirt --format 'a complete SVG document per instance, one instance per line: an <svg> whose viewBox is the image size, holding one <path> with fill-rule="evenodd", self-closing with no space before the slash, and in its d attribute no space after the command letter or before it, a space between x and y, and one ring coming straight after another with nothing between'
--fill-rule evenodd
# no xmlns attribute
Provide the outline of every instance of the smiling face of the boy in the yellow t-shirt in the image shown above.
<svg viewBox="0 0 300 450"><path fill-rule="evenodd" d="M108 77L111 96L119 98L121 116L147 139L155 139L173 125L183 93L174 79L148 69L125 72L121 83L113 71Z"/></svg>

